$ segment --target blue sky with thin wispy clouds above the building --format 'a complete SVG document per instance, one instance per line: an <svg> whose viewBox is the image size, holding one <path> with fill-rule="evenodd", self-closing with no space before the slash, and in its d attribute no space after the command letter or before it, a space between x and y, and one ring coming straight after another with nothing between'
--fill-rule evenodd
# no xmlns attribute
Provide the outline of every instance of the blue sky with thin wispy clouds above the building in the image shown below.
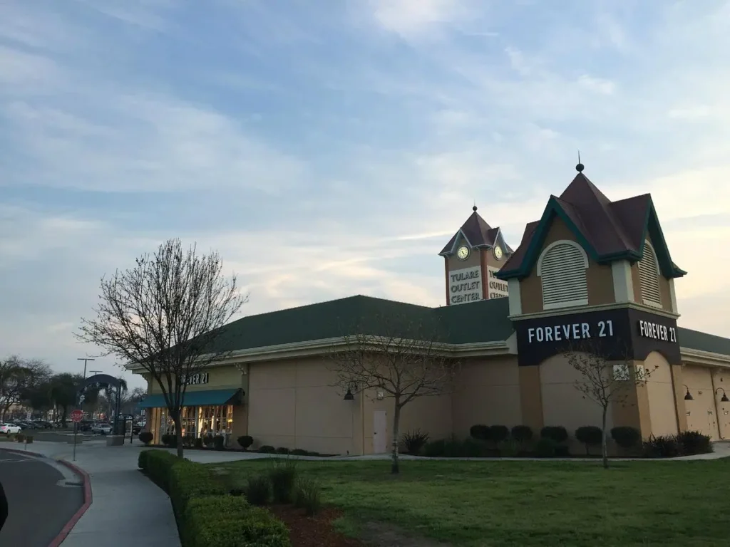
<svg viewBox="0 0 730 547"><path fill-rule="evenodd" d="M244 315L443 305L472 205L516 247L577 150L612 200L652 194L680 325L730 336L729 1L0 0L0 21L0 356L81 372L101 276L171 237L220 252Z"/></svg>

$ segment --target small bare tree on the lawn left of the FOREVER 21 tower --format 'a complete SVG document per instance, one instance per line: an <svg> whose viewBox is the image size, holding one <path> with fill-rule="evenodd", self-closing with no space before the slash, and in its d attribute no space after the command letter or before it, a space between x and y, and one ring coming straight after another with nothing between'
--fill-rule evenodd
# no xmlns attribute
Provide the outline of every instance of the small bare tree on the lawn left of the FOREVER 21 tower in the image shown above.
<svg viewBox="0 0 730 547"><path fill-rule="evenodd" d="M399 473L399 431L401 411L418 397L450 392L458 362L447 346L439 341L438 322L410 319L401 315L379 316L380 335L354 334L334 346L330 370L336 373L335 385L344 392L353 390L364 396L368 390L393 398L393 435L391 473Z"/></svg>

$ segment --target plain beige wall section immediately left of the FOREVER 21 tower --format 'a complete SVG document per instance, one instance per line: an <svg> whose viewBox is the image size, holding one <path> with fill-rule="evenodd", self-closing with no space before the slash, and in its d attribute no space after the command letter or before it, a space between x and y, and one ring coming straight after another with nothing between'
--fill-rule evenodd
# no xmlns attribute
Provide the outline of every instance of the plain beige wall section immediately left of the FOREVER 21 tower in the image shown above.
<svg viewBox="0 0 730 547"><path fill-rule="evenodd" d="M453 434L466 438L475 424L522 423L517 357L466 360L454 387Z"/></svg>

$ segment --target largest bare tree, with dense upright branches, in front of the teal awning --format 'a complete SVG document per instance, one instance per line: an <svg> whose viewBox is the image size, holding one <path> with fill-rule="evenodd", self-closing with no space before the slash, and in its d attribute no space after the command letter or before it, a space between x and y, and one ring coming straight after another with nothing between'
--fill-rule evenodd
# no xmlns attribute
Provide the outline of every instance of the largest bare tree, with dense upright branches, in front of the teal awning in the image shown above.
<svg viewBox="0 0 730 547"><path fill-rule="evenodd" d="M179 239L161 244L136 265L101 279L95 319L82 319L77 338L141 367L164 396L183 457L181 408L193 376L228 352L214 342L247 297L223 276L217 252L198 255Z"/></svg>

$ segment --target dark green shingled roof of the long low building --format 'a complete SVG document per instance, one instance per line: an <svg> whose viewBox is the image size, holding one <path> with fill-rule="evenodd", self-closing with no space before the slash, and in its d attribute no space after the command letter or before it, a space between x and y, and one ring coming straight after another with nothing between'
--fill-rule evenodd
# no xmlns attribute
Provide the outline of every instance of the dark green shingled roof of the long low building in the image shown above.
<svg viewBox="0 0 730 547"><path fill-rule="evenodd" d="M413 325L429 325L439 341L473 344L504 341L514 332L508 298L479 300L458 306L428 308L404 302L350 296L267 314L250 315L226 325L215 340L215 351L279 346L340 338L346 335L399 335L417 337ZM383 317L404 319L403 325L383 325ZM679 329L683 347L730 355L730 339L685 328Z"/></svg>

